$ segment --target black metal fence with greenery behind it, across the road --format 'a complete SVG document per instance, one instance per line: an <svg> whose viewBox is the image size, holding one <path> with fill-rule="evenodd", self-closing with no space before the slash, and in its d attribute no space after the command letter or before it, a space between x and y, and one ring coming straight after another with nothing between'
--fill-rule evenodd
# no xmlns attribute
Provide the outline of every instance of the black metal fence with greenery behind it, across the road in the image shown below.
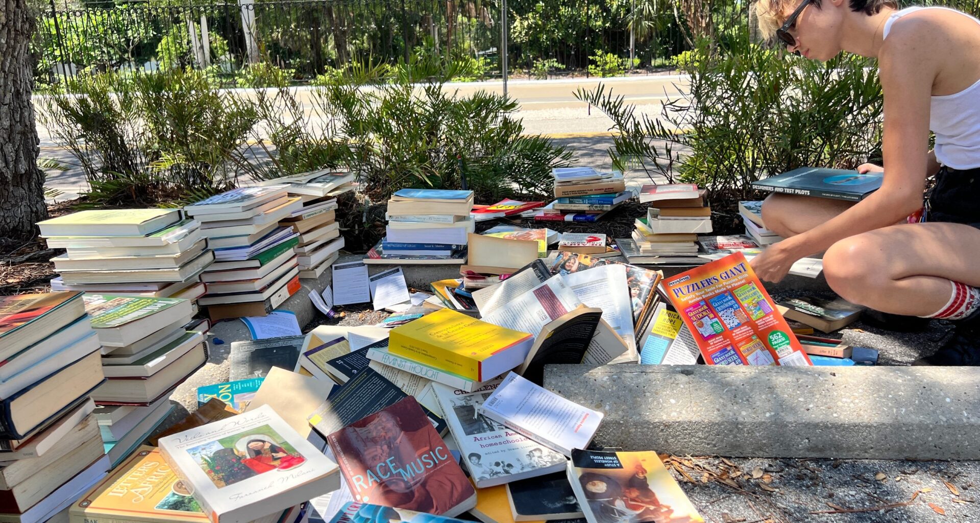
<svg viewBox="0 0 980 523"><path fill-rule="evenodd" d="M752 26L749 0L71 1L83 3L50 0L38 17L41 88L79 73L177 66L242 86L261 82L267 66L308 82L352 63L420 57L465 64L466 79L501 78L505 65L512 78L643 74L670 68L698 36ZM935 3L980 14L980 0Z"/></svg>

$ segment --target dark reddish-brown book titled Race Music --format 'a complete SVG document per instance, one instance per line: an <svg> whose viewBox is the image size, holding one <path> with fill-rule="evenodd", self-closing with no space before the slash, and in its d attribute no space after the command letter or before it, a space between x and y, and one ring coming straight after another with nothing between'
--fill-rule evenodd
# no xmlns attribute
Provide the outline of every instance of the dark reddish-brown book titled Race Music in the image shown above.
<svg viewBox="0 0 980 523"><path fill-rule="evenodd" d="M330 434L327 443L354 499L457 516L476 492L415 397Z"/></svg>

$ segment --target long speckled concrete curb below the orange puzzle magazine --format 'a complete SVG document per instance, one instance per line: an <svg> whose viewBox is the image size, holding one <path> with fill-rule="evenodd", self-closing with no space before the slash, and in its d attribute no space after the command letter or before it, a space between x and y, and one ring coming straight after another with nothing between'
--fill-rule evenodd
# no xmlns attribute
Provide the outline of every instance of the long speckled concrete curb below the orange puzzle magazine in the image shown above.
<svg viewBox="0 0 980 523"><path fill-rule="evenodd" d="M674 454L980 459L980 368L549 365L594 443Z"/></svg>

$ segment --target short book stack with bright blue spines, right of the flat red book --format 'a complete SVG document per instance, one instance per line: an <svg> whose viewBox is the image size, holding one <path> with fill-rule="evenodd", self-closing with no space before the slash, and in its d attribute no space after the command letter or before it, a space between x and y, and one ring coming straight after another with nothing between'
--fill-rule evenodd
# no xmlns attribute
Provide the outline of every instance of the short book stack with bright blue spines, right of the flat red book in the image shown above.
<svg viewBox="0 0 980 523"><path fill-rule="evenodd" d="M556 168L556 200L535 213L537 221L595 222L633 197L622 173L600 173L591 167Z"/></svg>

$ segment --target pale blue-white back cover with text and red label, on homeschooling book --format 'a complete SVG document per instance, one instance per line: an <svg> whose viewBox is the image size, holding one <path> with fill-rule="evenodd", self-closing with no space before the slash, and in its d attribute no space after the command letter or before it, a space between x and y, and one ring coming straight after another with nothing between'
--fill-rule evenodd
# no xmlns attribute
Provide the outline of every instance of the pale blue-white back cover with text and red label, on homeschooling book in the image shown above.
<svg viewBox="0 0 980 523"><path fill-rule="evenodd" d="M572 448L589 445L604 416L513 372L483 402L480 411L527 438L569 456Z"/></svg>

